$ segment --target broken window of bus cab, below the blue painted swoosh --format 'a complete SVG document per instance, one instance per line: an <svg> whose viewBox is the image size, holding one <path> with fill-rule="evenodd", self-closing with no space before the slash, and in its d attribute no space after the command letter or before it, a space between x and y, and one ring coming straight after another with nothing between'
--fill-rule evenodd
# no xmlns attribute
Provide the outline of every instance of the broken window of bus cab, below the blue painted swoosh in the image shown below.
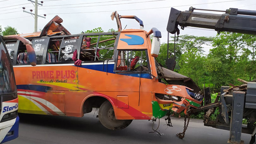
<svg viewBox="0 0 256 144"><path fill-rule="evenodd" d="M123 72L147 72L148 67L148 55L146 50L134 50L134 51L119 51L116 61L116 71Z"/></svg>

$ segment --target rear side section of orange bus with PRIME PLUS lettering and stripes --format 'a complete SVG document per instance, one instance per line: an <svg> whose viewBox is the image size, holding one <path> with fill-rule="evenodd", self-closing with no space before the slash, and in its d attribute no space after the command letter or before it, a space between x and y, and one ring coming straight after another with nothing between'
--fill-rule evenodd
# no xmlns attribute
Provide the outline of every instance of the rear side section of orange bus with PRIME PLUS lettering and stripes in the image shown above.
<svg viewBox="0 0 256 144"><path fill-rule="evenodd" d="M19 112L65 115L65 92L78 90L77 67L72 65L16 66Z"/></svg>

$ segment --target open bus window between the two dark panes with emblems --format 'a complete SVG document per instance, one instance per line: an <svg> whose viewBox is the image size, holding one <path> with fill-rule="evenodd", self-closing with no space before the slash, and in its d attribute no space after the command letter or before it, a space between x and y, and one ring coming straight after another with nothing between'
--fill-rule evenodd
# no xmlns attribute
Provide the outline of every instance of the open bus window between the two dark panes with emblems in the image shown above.
<svg viewBox="0 0 256 144"><path fill-rule="evenodd" d="M46 63L58 62L61 42L62 42L62 37L50 39L50 43L46 53Z"/></svg>

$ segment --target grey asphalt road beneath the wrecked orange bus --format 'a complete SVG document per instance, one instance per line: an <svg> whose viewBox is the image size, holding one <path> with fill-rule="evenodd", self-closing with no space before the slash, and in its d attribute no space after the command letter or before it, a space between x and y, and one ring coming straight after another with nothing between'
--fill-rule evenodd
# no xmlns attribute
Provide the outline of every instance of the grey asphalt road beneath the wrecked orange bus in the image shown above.
<svg viewBox="0 0 256 144"><path fill-rule="evenodd" d="M185 138L176 133L183 131L183 118L172 118L173 127L167 127L160 119L158 132L152 132L152 122L133 120L120 131L106 129L93 112L84 117L20 115L19 137L6 144L226 144L229 131L203 126L202 120L191 119ZM156 128L158 121L154 124ZM249 144L251 136L243 134L242 140Z"/></svg>

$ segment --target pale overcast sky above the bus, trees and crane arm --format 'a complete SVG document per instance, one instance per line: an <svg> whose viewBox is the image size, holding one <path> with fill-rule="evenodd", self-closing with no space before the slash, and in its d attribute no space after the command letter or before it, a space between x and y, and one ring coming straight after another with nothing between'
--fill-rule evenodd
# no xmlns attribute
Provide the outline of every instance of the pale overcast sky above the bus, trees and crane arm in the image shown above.
<svg viewBox="0 0 256 144"><path fill-rule="evenodd" d="M38 0L39 1L39 0ZM227 2L229 1L229 2ZM17 5L17 6L14 6ZM59 6L61 5L61 6ZM43 6L38 6L38 14L46 14L46 19L38 18L38 31L44 28L55 15L63 19L62 25L71 34L101 27L104 31L110 28L117 30L116 21L110 19L112 12L119 15L136 15L144 22L144 29L158 28L162 32L161 42L167 42L166 25L171 7L180 11L188 10L190 6L202 9L226 10L238 8L256 10L255 0L45 0ZM34 5L28 0L0 0L0 25L2 28L12 26L19 33L34 31L34 18L25 12L34 10ZM34 11L33 11L34 13ZM139 28L135 20L121 19L123 28ZM215 36L216 31L185 28L180 35ZM210 48L206 46L207 52Z"/></svg>

